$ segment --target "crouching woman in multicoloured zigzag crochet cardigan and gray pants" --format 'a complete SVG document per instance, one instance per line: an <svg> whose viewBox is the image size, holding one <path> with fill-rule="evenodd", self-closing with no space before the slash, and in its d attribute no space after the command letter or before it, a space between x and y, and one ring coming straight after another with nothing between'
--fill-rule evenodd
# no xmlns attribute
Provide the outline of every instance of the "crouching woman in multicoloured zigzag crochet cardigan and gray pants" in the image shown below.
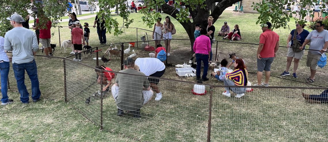
<svg viewBox="0 0 328 142"><path fill-rule="evenodd" d="M248 72L246 70L246 65L244 64L243 60L238 58L234 62L235 71L227 73L225 75L225 79L223 79L224 85L226 86L247 86L248 82ZM236 98L242 97L246 88L240 87L226 87L225 92L222 94L230 97L230 91L236 93Z"/></svg>

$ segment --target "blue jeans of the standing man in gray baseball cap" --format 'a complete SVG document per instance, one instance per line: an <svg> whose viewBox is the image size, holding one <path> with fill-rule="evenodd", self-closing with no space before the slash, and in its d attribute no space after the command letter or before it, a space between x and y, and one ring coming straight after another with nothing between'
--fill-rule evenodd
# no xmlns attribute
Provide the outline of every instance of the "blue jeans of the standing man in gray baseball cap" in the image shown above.
<svg viewBox="0 0 328 142"><path fill-rule="evenodd" d="M29 75L32 85L32 99L36 100L39 99L41 96L41 91L39 88L39 79L38 73L36 70L36 63L35 60L29 63L22 63L22 64L12 64L12 69L14 70L15 78L17 80L17 88L19 93L21 94L20 100L23 103L29 102L29 92L25 86L25 71Z"/></svg>

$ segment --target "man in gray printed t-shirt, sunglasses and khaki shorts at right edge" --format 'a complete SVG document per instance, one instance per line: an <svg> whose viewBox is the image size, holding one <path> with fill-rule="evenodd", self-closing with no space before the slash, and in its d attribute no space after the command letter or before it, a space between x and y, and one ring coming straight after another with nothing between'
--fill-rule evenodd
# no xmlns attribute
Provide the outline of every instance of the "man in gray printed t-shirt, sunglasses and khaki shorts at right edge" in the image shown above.
<svg viewBox="0 0 328 142"><path fill-rule="evenodd" d="M310 47L306 59L306 66L310 67L311 76L306 78L307 83L314 82L314 76L316 75L318 69L318 61L321 54L327 50L328 47L328 31L324 30L324 24L322 21L316 23L316 30L312 30L310 34L306 37L303 45L299 47L300 50L304 48L306 44L311 41ZM313 51L316 50L316 51Z"/></svg>

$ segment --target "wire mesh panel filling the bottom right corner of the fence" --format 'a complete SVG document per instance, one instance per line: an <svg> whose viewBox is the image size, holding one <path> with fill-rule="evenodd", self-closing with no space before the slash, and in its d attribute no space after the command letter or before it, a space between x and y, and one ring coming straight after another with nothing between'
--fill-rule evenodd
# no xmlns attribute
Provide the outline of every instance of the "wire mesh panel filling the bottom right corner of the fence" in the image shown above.
<svg viewBox="0 0 328 142"><path fill-rule="evenodd" d="M328 88L252 88L241 98L222 95L215 86L212 141L324 141L328 106L305 102L302 93L320 94ZM327 96L326 96L327 97Z"/></svg>

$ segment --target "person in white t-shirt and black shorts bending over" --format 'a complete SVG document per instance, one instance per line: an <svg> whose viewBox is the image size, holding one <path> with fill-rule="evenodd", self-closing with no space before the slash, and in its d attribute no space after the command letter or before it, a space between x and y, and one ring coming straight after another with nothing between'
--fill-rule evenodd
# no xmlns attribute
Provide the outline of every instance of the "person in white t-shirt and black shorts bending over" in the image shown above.
<svg viewBox="0 0 328 142"><path fill-rule="evenodd" d="M165 65L157 58L137 58L134 63L134 70L145 73L146 76L161 77L165 72ZM156 101L161 100L162 92L158 89L159 79L148 77L150 86L156 91Z"/></svg>

